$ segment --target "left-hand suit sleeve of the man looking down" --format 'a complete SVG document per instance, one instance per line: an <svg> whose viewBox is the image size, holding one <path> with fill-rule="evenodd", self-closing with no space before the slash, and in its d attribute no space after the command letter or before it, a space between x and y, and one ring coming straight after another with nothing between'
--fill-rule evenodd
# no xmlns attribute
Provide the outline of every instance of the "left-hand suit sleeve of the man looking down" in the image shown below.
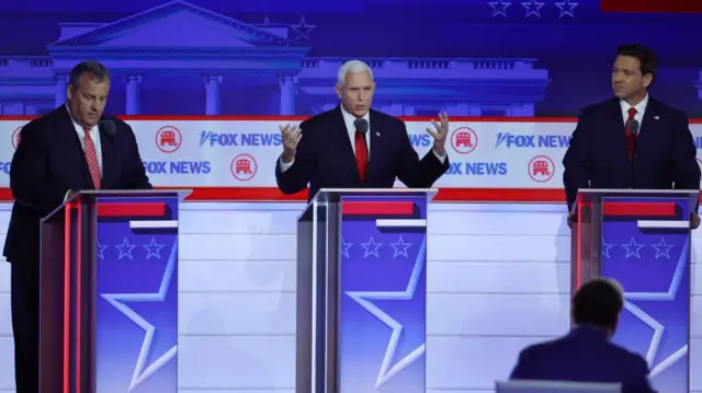
<svg viewBox="0 0 702 393"><path fill-rule="evenodd" d="M20 131L21 142L12 157L10 189L18 204L45 216L64 203L68 189L47 181L48 150L44 125L30 123Z"/></svg>

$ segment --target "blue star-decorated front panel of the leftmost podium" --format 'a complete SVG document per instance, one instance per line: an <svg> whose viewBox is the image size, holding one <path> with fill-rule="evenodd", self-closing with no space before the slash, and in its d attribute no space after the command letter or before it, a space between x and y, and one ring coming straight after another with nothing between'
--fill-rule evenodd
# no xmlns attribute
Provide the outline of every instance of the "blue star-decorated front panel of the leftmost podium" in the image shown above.
<svg viewBox="0 0 702 393"><path fill-rule="evenodd" d="M176 393L178 200L103 198L101 205L97 392Z"/></svg>

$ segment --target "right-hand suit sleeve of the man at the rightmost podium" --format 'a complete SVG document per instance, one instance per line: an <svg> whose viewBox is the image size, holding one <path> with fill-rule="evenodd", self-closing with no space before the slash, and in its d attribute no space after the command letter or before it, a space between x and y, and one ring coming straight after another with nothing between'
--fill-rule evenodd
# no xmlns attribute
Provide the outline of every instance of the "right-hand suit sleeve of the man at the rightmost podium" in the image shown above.
<svg viewBox="0 0 702 393"><path fill-rule="evenodd" d="M676 116L673 135L672 171L676 189L700 189L702 175L697 160L698 150L684 113Z"/></svg>

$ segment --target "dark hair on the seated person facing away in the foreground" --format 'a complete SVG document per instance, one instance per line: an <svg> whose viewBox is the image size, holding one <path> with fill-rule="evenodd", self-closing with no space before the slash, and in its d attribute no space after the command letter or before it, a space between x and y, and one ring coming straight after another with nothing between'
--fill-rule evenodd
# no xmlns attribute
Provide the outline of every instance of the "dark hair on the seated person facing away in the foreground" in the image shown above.
<svg viewBox="0 0 702 393"><path fill-rule="evenodd" d="M613 282L596 278L584 284L573 298L573 320L576 324L616 327L624 307L621 289Z"/></svg>

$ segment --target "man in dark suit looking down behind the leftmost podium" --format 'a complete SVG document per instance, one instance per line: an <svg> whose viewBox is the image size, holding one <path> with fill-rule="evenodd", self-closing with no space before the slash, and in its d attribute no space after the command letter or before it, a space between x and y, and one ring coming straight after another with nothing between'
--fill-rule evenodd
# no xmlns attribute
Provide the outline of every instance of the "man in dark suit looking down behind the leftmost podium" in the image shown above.
<svg viewBox="0 0 702 393"><path fill-rule="evenodd" d="M39 220L81 189L151 188L134 131L103 116L109 92L110 74L103 65L76 66L66 105L24 126L12 157L10 188L15 201L3 254L12 265L18 393L38 389Z"/></svg>

